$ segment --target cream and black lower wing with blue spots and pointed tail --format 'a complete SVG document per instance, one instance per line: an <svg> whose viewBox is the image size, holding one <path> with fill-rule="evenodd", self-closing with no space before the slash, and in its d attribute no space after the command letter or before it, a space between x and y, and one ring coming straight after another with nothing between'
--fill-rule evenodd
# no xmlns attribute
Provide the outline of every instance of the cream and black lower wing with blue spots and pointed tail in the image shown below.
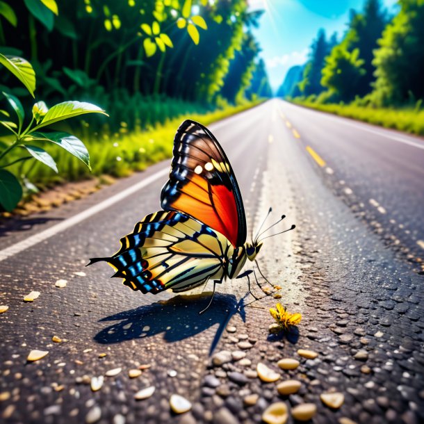
<svg viewBox="0 0 424 424"><path fill-rule="evenodd" d="M186 291L224 272L229 241L185 213L157 212L138 222L121 238L121 249L107 261L134 291Z"/></svg>

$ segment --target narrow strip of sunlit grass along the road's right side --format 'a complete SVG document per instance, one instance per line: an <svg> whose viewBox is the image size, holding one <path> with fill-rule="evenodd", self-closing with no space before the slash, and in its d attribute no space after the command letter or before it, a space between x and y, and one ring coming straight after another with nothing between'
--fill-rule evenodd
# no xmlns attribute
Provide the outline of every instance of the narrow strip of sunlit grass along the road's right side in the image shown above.
<svg viewBox="0 0 424 424"><path fill-rule="evenodd" d="M292 99L291 101L318 111L424 136L424 111L419 108L373 108L354 104L319 104L304 99Z"/></svg>

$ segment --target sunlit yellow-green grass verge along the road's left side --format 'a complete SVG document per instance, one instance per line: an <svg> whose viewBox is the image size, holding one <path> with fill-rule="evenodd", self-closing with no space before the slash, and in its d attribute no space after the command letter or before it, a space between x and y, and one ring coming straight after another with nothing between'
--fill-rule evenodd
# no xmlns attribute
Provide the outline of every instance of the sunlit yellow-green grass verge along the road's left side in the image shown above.
<svg viewBox="0 0 424 424"><path fill-rule="evenodd" d="M13 165L9 169L15 174L26 174L31 183L43 188L54 186L65 181L79 181L102 174L113 177L127 177L135 171L141 171L158 161L172 156L175 132L179 124L186 119L209 125L261 103L261 100L250 101L238 106L227 106L205 114L180 115L142 130L140 124L129 131L125 122L120 129L112 132L107 127L102 131L93 131L88 122L82 121L80 129L63 128L83 140L90 152L92 172L78 159L56 146L42 145L58 165L59 174L38 161L28 161L26 168L19 169Z"/></svg>

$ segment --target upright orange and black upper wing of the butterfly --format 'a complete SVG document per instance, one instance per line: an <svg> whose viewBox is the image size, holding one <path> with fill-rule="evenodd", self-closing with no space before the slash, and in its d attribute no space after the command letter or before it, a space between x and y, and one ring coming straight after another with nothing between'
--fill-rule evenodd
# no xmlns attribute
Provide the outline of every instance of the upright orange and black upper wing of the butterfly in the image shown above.
<svg viewBox="0 0 424 424"><path fill-rule="evenodd" d="M170 179L161 193L165 211L182 211L219 231L234 247L246 240L246 218L231 165L203 125L184 121L174 139Z"/></svg>

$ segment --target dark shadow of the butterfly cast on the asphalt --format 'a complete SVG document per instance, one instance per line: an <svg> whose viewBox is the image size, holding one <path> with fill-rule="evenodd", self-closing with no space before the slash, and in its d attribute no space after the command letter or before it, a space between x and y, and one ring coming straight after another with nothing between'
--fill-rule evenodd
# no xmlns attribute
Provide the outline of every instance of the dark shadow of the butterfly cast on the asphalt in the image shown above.
<svg viewBox="0 0 424 424"><path fill-rule="evenodd" d="M94 340L101 344L113 344L163 333L164 340L173 343L219 324L209 349L209 354L212 354L230 318L239 313L245 321L245 308L244 299L237 301L234 295L215 293L211 307L199 314L209 304L211 295L177 295L170 300L102 318L100 322L119 322L102 329Z"/></svg>

